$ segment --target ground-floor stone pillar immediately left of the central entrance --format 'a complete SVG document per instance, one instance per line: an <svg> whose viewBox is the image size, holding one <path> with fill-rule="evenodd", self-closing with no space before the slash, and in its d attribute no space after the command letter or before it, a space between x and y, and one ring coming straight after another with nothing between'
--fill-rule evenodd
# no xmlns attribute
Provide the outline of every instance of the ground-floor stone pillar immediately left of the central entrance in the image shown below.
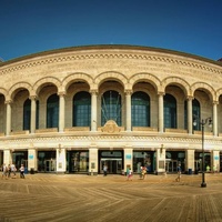
<svg viewBox="0 0 222 222"><path fill-rule="evenodd" d="M97 175L98 172L98 148L92 145L89 149L89 174Z"/></svg>

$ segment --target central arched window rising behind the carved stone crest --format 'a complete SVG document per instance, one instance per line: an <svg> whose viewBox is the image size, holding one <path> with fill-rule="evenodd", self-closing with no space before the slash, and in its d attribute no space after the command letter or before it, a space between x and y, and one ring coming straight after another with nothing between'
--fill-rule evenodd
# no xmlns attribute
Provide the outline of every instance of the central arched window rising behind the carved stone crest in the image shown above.
<svg viewBox="0 0 222 222"><path fill-rule="evenodd" d="M118 125L121 125L121 95L117 91L107 91L101 98L101 125L108 120L114 120Z"/></svg>

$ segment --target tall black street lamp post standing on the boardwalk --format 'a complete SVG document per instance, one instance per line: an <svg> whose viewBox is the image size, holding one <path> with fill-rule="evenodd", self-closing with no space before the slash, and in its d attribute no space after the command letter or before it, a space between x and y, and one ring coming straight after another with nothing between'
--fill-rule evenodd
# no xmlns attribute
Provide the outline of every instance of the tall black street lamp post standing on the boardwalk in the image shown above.
<svg viewBox="0 0 222 222"><path fill-rule="evenodd" d="M205 183L205 158L204 158L204 125L209 123L209 127L212 127L212 119L211 118L206 118L205 120L202 119L200 121L201 124L201 131L202 131L202 183L201 183L201 188L206 188L206 183ZM196 122L194 120L193 122L194 125L196 125Z"/></svg>

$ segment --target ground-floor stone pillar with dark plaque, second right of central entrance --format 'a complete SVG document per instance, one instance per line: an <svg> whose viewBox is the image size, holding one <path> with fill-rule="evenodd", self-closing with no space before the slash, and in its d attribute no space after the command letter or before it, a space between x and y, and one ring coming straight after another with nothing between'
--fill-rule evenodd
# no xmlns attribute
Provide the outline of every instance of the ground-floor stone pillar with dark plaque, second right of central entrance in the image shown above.
<svg viewBox="0 0 222 222"><path fill-rule="evenodd" d="M155 173L159 175L159 174L164 174L165 173L165 149L164 149L164 145L161 144L160 148L157 149L157 152L155 152L155 165L157 165L157 169L155 169Z"/></svg>

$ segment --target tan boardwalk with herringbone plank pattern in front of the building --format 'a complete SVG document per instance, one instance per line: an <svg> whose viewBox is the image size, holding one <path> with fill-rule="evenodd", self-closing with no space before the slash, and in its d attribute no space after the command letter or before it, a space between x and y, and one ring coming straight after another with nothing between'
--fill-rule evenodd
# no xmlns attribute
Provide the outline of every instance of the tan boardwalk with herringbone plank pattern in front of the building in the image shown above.
<svg viewBox="0 0 222 222"><path fill-rule="evenodd" d="M222 174L28 174L0 180L0 221L171 222L222 221Z"/></svg>

